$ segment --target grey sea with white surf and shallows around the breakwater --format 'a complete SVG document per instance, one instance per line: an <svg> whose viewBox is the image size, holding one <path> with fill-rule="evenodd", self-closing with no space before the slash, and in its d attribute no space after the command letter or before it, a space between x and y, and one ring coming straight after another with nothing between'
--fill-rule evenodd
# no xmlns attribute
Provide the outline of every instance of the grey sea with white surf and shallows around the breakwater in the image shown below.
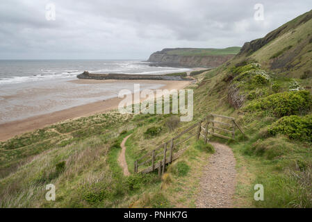
<svg viewBox="0 0 312 222"><path fill-rule="evenodd" d="M161 75L190 69L156 67L141 60L0 60L0 124L110 99L122 89L133 91L129 81L74 83L72 80L77 80L76 75L83 71ZM140 89L162 86L146 83Z"/></svg>

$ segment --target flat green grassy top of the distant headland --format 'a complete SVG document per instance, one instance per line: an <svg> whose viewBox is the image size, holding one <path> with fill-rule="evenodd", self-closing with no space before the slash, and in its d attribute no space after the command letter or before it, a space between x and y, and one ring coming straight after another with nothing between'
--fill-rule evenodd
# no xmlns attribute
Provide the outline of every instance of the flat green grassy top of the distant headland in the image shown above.
<svg viewBox="0 0 312 222"><path fill-rule="evenodd" d="M168 55L177 56L213 56L213 55L236 55L240 51L240 47L229 47L225 49L163 49L162 52Z"/></svg>

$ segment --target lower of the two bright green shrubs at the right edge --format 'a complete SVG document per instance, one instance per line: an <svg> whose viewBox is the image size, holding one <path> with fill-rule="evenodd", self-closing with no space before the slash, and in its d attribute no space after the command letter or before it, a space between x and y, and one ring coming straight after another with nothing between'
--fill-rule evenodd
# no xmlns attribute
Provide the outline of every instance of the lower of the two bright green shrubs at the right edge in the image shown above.
<svg viewBox="0 0 312 222"><path fill-rule="evenodd" d="M312 114L305 117L282 117L268 129L270 135L278 133L287 135L290 139L312 141Z"/></svg>

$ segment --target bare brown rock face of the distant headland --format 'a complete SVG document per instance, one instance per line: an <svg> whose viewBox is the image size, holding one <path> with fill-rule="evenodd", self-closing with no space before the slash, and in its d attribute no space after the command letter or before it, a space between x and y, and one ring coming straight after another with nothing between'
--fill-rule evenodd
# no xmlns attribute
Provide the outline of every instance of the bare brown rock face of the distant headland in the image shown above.
<svg viewBox="0 0 312 222"><path fill-rule="evenodd" d="M204 55L204 56L191 56L191 55L175 55L169 54L168 51L174 49L163 49L157 51L149 56L148 62L157 62L161 65L174 65L184 67L218 67L222 63L227 62L235 54L222 54L222 55Z"/></svg>

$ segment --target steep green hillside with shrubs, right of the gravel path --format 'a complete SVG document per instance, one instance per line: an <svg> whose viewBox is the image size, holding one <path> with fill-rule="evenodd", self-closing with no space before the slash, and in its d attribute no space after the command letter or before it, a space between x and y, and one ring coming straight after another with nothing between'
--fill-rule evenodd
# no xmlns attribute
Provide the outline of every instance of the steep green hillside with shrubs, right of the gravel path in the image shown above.
<svg viewBox="0 0 312 222"><path fill-rule="evenodd" d="M311 23L312 11L245 44L197 89L197 104L207 99L208 110L237 117L245 128L245 139L230 142L239 206L312 207ZM255 184L263 185L265 201L252 200Z"/></svg>

